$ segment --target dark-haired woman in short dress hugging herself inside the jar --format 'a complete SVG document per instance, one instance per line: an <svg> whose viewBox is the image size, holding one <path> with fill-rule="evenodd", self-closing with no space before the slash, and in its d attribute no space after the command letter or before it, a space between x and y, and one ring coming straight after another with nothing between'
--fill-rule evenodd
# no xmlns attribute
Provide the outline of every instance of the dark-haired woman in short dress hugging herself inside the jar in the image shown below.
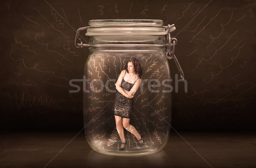
<svg viewBox="0 0 256 168"><path fill-rule="evenodd" d="M131 58L125 64L125 69L122 70L115 84L117 92L114 101L114 115L116 130L122 141L119 151L124 151L127 144L124 128L137 138L140 147L145 144L143 135L140 135L135 127L130 125L133 97L140 87L142 72L143 68L140 62L136 58Z"/></svg>

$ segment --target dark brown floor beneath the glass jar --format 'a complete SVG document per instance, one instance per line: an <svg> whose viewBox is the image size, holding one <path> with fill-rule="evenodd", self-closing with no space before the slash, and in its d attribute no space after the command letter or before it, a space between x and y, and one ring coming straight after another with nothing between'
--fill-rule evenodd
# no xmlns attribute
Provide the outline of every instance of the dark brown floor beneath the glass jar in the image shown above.
<svg viewBox="0 0 256 168"><path fill-rule="evenodd" d="M79 131L2 132L1 168L256 167L253 131L177 131L178 135L172 130L162 151L131 157L99 154L89 147L83 132L76 136Z"/></svg>

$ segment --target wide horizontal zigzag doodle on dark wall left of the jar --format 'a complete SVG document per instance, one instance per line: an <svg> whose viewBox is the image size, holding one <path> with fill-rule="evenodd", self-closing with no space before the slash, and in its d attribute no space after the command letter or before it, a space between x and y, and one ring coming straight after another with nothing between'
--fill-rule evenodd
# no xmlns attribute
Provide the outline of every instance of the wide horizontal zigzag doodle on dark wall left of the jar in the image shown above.
<svg viewBox="0 0 256 168"><path fill-rule="evenodd" d="M20 98L17 98L17 92L15 93L15 99L16 99L16 106L17 108L19 109L21 107L21 105L23 107L26 107L26 104L29 103L29 107L32 107L32 105L38 105L38 103L40 102L41 105L44 105L45 103L46 104L54 104L54 103L58 103L58 102L63 102L63 101L67 101L66 99L53 99L51 98L48 102L48 98L45 98L44 101L43 101L43 98L42 96L39 97L38 101L36 102L35 100L35 96L33 96L33 100L31 102L30 100L30 94L27 96L26 98L26 102L25 102L25 99L24 99L24 93L22 93L22 97L21 97L21 100L20 100L20 104L18 104L18 99Z"/></svg>

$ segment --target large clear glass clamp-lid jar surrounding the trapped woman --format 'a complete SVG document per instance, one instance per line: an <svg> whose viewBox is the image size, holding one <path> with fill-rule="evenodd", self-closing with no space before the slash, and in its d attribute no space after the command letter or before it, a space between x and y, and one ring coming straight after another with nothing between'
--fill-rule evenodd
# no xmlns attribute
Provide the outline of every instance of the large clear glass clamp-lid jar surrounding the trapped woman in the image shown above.
<svg viewBox="0 0 256 168"><path fill-rule="evenodd" d="M90 147L102 154L138 156L160 151L168 142L172 114L172 85L167 59L183 72L174 55L177 40L170 38L174 25L162 20L90 20L77 30L76 47L88 46L84 67L84 132ZM89 42L79 32L86 30ZM80 37L79 37L80 36ZM82 42L84 41L84 42ZM125 63L137 58L143 67L140 88L133 99L130 124L143 135L143 146L124 130L125 150L116 129L115 83Z"/></svg>

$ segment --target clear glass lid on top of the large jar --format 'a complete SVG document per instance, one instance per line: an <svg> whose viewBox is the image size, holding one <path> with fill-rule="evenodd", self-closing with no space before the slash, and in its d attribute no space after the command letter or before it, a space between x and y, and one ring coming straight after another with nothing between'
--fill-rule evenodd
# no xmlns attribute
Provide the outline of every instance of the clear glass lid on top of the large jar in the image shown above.
<svg viewBox="0 0 256 168"><path fill-rule="evenodd" d="M108 35L166 35L170 30L163 25L163 20L150 19L112 19L112 20L89 20L88 36Z"/></svg>

